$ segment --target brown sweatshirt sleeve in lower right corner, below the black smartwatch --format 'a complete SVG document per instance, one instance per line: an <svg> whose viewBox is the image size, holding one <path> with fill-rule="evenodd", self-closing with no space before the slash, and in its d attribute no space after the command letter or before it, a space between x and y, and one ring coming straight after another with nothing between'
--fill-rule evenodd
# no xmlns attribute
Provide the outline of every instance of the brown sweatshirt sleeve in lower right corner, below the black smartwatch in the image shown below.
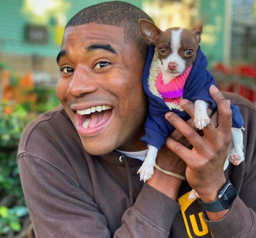
<svg viewBox="0 0 256 238"><path fill-rule="evenodd" d="M256 121L256 120L255 120ZM219 221L204 219L214 238L256 237L256 155L252 158L242 189L227 215Z"/></svg>

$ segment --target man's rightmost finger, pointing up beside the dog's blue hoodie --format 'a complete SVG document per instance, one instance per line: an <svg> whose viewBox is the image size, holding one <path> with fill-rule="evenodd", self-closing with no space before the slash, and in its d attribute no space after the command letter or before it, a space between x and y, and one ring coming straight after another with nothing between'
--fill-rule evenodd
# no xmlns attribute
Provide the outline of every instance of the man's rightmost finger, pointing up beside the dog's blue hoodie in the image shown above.
<svg viewBox="0 0 256 238"><path fill-rule="evenodd" d="M214 85L210 87L209 91L212 99L217 104L219 112L218 128L223 132L230 132L232 126L232 110L230 109L230 103L226 101L222 93Z"/></svg>

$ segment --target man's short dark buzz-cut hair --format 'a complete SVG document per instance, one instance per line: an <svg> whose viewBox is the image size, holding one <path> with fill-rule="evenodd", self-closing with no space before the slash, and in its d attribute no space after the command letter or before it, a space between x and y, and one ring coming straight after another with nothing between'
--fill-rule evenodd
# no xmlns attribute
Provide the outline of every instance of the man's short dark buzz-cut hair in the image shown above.
<svg viewBox="0 0 256 238"><path fill-rule="evenodd" d="M84 8L68 21L66 28L91 22L123 27L125 43L135 45L143 58L146 59L148 44L139 33L138 21L140 18L153 22L138 7L122 1L109 1Z"/></svg>

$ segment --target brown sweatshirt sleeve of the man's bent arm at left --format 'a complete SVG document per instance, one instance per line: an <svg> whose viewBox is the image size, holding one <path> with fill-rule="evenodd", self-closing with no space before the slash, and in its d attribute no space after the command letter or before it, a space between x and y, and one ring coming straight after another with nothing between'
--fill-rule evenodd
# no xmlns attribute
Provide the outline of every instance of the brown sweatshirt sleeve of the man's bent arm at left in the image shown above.
<svg viewBox="0 0 256 238"><path fill-rule="evenodd" d="M37 238L164 238L179 210L175 201L144 184L121 227L110 234L100 207L71 176L26 152L19 154L18 165Z"/></svg>

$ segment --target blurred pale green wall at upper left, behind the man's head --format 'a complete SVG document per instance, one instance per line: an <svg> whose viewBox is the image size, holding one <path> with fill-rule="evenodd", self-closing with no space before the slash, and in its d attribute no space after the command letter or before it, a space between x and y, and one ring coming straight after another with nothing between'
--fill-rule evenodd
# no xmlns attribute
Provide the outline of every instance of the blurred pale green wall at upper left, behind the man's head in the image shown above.
<svg viewBox="0 0 256 238"><path fill-rule="evenodd" d="M44 0L41 0L44 1ZM101 3L102 0L64 0L70 3L67 20L83 8ZM126 1L141 7L142 0ZM0 53L56 57L60 45L53 43L53 26L48 24L48 43L44 45L28 44L24 40L24 27L28 22L22 13L23 0L0 0Z"/></svg>

